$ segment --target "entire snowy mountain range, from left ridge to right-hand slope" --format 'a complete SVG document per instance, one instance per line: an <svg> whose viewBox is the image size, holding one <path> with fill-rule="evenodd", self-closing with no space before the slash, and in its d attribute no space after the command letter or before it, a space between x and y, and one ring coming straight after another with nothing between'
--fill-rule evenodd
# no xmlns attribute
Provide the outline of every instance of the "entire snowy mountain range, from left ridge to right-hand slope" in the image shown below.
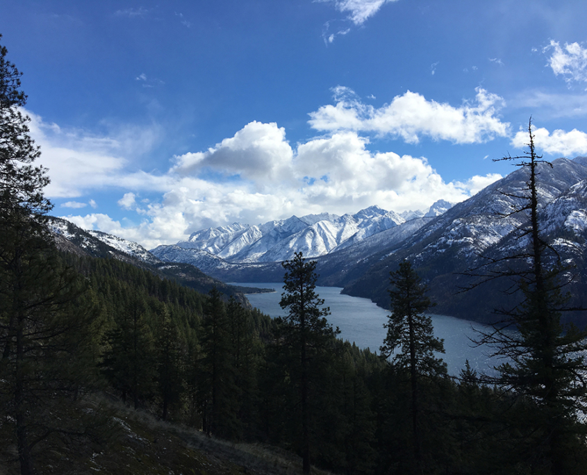
<svg viewBox="0 0 587 475"><path fill-rule="evenodd" d="M317 260L319 285L341 287L344 293L384 308L389 273L408 259L437 303L435 313L491 322L493 310L504 303L501 290L511 282L461 290L474 286L468 269L524 245L516 230L527 216L512 210L520 204L515 196L523 194L526 181L526 170L516 169L454 206L440 200L429 210L402 214L371 206L354 215L292 216L255 226L234 223L197 231L188 240L151 251L99 231L88 231L83 239L91 237L159 269L195 266L224 282L282 281L281 262L302 252ZM559 158L552 167L540 165L538 195L543 238L572 265L567 287L572 305L586 307L587 158ZM62 231L62 237L67 233ZM587 324L581 313L566 318Z"/></svg>

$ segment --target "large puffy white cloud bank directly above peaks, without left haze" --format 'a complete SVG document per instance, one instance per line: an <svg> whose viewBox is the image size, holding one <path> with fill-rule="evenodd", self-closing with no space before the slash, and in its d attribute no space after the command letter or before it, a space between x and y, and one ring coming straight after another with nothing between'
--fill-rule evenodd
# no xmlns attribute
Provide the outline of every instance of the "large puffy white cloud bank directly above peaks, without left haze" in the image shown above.
<svg viewBox="0 0 587 475"><path fill-rule="evenodd" d="M445 183L425 158L374 153L368 144L343 131L292 149L283 128L251 122L208 151L176 157L163 176L125 176L128 188L164 190L159 201L144 203L140 224L122 226L98 213L67 218L151 248L235 221L258 224L324 210L342 215L373 204L397 211L427 208L440 198L466 199L493 179ZM135 192L118 203L136 206Z"/></svg>

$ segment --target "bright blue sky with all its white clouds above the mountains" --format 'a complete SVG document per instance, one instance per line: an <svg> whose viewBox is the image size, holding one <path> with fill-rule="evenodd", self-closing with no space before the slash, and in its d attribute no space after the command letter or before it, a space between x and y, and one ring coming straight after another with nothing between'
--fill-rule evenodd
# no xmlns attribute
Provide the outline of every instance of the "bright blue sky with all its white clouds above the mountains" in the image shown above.
<svg viewBox="0 0 587 475"><path fill-rule="evenodd" d="M0 0L53 215L201 228L461 201L587 155L584 0Z"/></svg>

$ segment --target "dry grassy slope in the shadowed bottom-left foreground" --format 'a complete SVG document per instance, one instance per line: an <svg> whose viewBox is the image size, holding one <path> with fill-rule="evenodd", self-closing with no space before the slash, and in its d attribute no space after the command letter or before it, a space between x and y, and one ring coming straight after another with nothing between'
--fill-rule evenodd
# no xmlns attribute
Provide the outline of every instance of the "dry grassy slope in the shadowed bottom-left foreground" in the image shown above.
<svg viewBox="0 0 587 475"><path fill-rule="evenodd" d="M163 422L119 401L92 397L67 410L67 417L99 414L109 421L99 441L58 440L38 454L40 475L297 475L301 458L263 444L232 443L207 437L194 428ZM0 440L10 445L8 440ZM7 451L3 451L6 455ZM13 460L0 461L0 475L17 475ZM315 475L329 475L318 469Z"/></svg>

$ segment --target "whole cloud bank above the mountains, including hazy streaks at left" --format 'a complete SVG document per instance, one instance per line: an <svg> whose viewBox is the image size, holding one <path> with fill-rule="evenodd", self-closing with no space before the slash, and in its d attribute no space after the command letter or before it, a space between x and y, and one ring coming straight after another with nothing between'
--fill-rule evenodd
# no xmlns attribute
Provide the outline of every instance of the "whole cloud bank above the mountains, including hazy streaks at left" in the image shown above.
<svg viewBox="0 0 587 475"><path fill-rule="evenodd" d="M348 97L350 92L337 94ZM102 199L102 213L65 217L149 249L232 222L258 224L324 210L342 215L374 204L398 212L424 209L438 199L466 199L495 178L447 183L426 158L371 151L368 138L354 130L333 131L292 147L283 128L262 122L245 125L208 150L172 158L160 174L131 172L118 156L127 150L119 138L64 131L38 117L33 122L43 164L51 168L49 197L85 196L97 189L117 197L109 204L119 208L108 208ZM139 199L147 194L148 200ZM83 201L97 207L89 197ZM113 219L122 211L129 219Z"/></svg>

